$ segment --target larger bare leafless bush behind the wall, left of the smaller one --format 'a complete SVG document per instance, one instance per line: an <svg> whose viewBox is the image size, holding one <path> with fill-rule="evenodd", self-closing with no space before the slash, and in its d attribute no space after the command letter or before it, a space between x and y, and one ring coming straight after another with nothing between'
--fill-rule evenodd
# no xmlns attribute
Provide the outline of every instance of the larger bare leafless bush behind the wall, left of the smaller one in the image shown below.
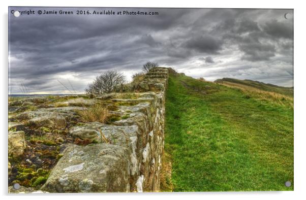
<svg viewBox="0 0 306 200"><path fill-rule="evenodd" d="M124 84L126 77L117 71L107 71L97 76L93 83L90 83L85 89L87 94L104 94L114 90L116 85Z"/></svg>

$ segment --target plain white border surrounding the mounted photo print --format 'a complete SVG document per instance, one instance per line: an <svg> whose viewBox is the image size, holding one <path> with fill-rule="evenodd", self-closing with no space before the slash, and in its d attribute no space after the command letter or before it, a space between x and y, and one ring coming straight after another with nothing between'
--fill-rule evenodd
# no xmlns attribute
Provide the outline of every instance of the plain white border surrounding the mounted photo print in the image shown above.
<svg viewBox="0 0 306 200"><path fill-rule="evenodd" d="M2 142L2 164L1 164L1 194L3 199L54 199L57 197L66 196L75 199L83 199L88 196L89 198L101 199L156 199L156 198L178 198L186 199L305 199L305 126L304 115L305 109L305 28L304 24L305 7L301 3L302 1L163 1L163 0L151 0L151 1L92 1L92 0L50 0L50 1L1 1L1 60L3 61L1 67L1 142ZM56 195L22 195L12 196L7 194L7 103L8 103L8 6L67 6L67 7L169 7L169 8L290 8L294 9L294 191L288 192L202 192L202 193L143 193L143 194L125 194L125 193L107 193L107 194L56 194Z"/></svg>

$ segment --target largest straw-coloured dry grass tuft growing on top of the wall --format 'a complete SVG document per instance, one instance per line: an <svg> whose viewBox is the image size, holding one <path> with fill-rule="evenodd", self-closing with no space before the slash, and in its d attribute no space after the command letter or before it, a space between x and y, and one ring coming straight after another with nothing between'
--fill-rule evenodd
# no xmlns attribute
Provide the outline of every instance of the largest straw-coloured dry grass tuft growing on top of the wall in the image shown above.
<svg viewBox="0 0 306 200"><path fill-rule="evenodd" d="M109 116L109 112L104 105L95 104L86 110L79 110L77 113L86 122L98 121L104 123Z"/></svg>

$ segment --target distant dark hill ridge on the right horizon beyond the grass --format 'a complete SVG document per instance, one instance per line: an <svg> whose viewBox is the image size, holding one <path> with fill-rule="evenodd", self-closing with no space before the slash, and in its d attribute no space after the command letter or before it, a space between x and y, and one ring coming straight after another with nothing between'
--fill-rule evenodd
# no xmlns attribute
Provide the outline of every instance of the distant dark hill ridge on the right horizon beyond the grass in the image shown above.
<svg viewBox="0 0 306 200"><path fill-rule="evenodd" d="M222 84L239 84L241 86L250 86L254 87L260 90L269 91L269 92L277 92L280 94L293 96L293 87L282 87L278 85L273 85L269 83L263 83L259 81L252 81L252 80L239 80L239 79L232 79L232 78L223 78L223 79L217 79L215 81L216 83L222 83Z"/></svg>

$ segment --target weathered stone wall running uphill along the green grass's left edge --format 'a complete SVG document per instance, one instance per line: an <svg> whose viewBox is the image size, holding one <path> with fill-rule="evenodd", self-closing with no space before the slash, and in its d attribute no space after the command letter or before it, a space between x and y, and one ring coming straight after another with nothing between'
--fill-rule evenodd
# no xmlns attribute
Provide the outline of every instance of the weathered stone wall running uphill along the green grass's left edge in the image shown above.
<svg viewBox="0 0 306 200"><path fill-rule="evenodd" d="M69 129L72 137L99 143L62 145L63 157L41 190L48 192L159 191L164 148L168 68L155 68L143 81L121 85L118 93L97 96L117 103L121 117L111 124L89 122ZM123 98L123 92L137 92Z"/></svg>

